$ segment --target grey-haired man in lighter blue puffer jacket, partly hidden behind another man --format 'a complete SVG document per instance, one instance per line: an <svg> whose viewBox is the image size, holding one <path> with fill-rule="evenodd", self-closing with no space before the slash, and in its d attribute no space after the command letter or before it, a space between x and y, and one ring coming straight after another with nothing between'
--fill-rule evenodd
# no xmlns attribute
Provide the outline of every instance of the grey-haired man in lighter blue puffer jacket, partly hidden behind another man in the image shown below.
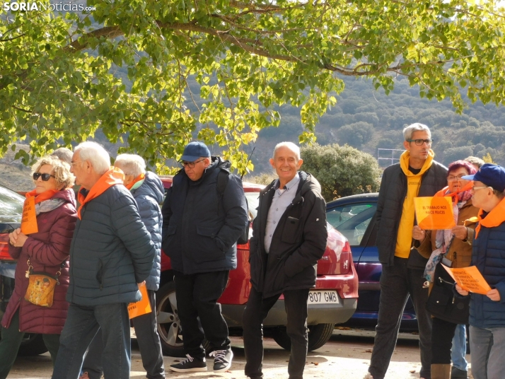
<svg viewBox="0 0 505 379"><path fill-rule="evenodd" d="M132 321L146 377L149 379L165 378L163 353L157 330L155 300L155 293L160 286L161 273L162 218L158 204L163 202L163 183L155 173L146 172L146 162L141 156L120 154L114 165L123 171L124 185L132 192L139 206L140 218L147 231L151 233L151 240L156 247L151 274L146 279L147 294L153 311L134 317ZM81 379L100 379L102 377L102 352L102 338L100 331L98 331L84 359Z"/></svg>

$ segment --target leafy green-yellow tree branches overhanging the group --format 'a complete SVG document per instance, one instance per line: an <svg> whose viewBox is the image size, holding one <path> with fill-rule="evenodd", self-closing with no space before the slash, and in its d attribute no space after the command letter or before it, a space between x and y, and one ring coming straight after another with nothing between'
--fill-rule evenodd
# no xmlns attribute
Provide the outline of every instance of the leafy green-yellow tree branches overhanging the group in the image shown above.
<svg viewBox="0 0 505 379"><path fill-rule="evenodd" d="M342 76L372 78L386 94L394 76L405 76L422 97L449 98L458 110L462 93L505 103L505 11L493 1L87 5L95 11L0 10L3 153L28 138L41 155L101 128L112 142L127 138L151 165L180 156L197 136L226 146L243 170L241 147L279 124L278 105L300 107L299 141L313 141L319 117L344 89Z"/></svg>

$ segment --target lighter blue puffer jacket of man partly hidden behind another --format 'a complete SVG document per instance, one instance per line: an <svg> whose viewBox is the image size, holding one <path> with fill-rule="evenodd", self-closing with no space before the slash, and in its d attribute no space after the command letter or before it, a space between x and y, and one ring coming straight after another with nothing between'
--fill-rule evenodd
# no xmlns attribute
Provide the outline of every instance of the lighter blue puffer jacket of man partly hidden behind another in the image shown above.
<svg viewBox="0 0 505 379"><path fill-rule="evenodd" d="M144 182L137 189L132 189L132 194L139 206L139 214L144 226L151 233L151 240L156 249L153 267L149 278L146 279L147 289L158 291L161 274L161 209L163 202L163 183L158 175L147 172Z"/></svg>

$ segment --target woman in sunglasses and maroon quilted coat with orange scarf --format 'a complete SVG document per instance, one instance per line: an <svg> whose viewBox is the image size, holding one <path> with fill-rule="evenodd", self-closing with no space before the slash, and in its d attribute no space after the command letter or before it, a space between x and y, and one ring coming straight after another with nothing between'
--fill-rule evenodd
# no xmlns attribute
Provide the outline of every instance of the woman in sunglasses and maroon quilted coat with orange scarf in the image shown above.
<svg viewBox="0 0 505 379"><path fill-rule="evenodd" d="M74 175L67 163L50 156L33 165L32 175L35 189L26 194L22 223L23 230L29 223L32 233L22 233L18 228L9 234L8 252L18 263L16 285L1 320L0 379L6 378L11 370L25 333L42 334L54 364L68 309L65 300L69 287L68 259L77 219L72 190ZM35 198L35 212L27 216L30 197ZM29 276L39 272L55 276L59 282L54 286L51 306L25 300Z"/></svg>

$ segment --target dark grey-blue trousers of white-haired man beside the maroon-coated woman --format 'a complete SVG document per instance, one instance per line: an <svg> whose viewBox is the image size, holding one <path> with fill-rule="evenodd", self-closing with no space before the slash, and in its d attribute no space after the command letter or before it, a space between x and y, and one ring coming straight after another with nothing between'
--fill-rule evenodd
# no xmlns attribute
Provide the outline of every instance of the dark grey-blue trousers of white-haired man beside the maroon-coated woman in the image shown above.
<svg viewBox="0 0 505 379"><path fill-rule="evenodd" d="M83 357L98 328L102 330L103 374L127 379L130 371L129 317L126 303L83 306L71 303L59 341L52 379L77 379Z"/></svg>

